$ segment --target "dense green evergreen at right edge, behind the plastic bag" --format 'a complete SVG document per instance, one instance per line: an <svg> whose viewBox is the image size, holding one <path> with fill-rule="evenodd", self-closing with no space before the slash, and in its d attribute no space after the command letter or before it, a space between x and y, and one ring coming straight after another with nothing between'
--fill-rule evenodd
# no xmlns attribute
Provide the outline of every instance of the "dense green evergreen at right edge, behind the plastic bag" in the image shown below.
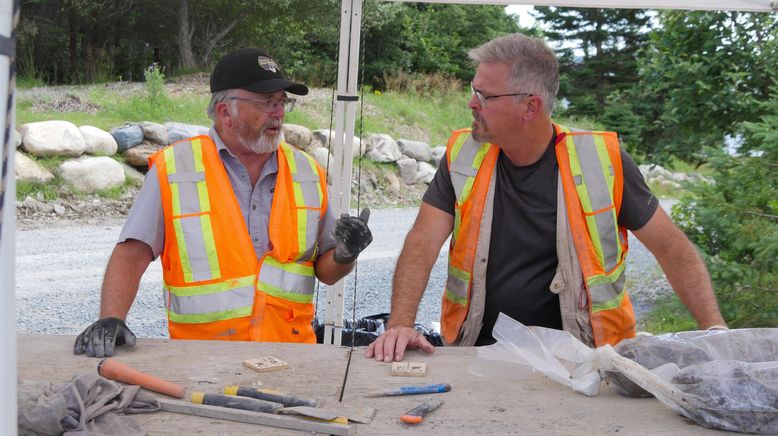
<svg viewBox="0 0 778 436"><path fill-rule="evenodd" d="M741 124L745 148L711 149L714 184L701 184L674 209L676 222L704 252L731 327L778 323L778 85Z"/></svg>

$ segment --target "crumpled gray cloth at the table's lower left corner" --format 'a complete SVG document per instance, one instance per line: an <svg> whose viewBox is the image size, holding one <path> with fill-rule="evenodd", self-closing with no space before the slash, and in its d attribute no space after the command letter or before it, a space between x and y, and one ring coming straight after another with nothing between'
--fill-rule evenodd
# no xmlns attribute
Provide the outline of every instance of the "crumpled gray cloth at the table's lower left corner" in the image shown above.
<svg viewBox="0 0 778 436"><path fill-rule="evenodd" d="M97 373L64 384L18 382L19 435L144 435L125 414L159 410L139 386L123 386Z"/></svg>

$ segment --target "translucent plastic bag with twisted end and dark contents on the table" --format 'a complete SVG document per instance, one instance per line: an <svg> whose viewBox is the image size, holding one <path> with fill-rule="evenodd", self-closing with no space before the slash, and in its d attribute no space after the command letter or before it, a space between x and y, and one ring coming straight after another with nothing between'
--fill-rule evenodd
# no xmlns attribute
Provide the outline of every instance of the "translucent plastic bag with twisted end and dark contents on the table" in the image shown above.
<svg viewBox="0 0 778 436"><path fill-rule="evenodd" d="M510 380L540 373L594 396L600 371L609 371L703 427L778 434L778 329L683 332L619 344L652 370L610 345L591 349L570 333L527 327L502 313L492 335L497 343L478 349L471 374Z"/></svg>

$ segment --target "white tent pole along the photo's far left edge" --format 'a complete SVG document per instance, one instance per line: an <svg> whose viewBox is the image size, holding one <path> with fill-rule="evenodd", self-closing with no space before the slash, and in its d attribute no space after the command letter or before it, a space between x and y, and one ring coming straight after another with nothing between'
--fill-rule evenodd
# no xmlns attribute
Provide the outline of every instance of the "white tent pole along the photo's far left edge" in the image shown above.
<svg viewBox="0 0 778 436"><path fill-rule="evenodd" d="M0 2L0 434L16 434L16 298L14 292L14 232L16 173L14 171L14 27L19 2Z"/></svg>

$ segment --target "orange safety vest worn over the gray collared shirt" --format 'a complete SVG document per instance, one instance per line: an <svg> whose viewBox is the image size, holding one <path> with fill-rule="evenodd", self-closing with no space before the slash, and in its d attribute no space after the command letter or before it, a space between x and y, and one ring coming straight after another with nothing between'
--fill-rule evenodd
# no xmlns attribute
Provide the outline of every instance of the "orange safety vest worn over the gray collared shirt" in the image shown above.
<svg viewBox="0 0 778 436"><path fill-rule="evenodd" d="M276 155L273 248L259 262L210 137L179 141L149 158L165 216L160 258L172 339L316 342L313 262L327 208L325 176L288 144Z"/></svg>

